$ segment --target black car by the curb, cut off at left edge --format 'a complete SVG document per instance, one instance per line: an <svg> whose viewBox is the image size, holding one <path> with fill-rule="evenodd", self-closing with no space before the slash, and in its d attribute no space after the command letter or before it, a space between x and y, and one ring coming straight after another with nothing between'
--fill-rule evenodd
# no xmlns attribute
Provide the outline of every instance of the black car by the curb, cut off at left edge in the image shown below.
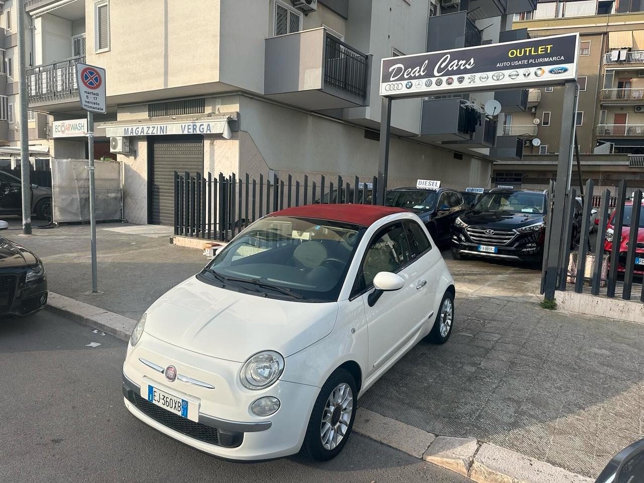
<svg viewBox="0 0 644 483"><path fill-rule="evenodd" d="M8 229L0 222L0 230ZM43 262L26 248L0 236L0 319L28 316L47 305Z"/></svg>

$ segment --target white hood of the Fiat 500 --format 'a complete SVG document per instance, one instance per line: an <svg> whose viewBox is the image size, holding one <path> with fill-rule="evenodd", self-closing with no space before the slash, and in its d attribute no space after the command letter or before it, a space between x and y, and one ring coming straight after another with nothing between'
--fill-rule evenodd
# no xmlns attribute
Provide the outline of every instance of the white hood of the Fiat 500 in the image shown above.
<svg viewBox="0 0 644 483"><path fill-rule="evenodd" d="M187 279L147 309L145 331L169 344L243 363L262 350L284 357L330 334L337 302L264 298Z"/></svg>

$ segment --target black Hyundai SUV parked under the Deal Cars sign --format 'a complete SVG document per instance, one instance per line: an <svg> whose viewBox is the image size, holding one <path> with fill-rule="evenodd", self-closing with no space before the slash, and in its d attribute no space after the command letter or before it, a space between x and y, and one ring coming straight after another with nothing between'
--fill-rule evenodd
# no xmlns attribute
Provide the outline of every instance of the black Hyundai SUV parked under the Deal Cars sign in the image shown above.
<svg viewBox="0 0 644 483"><path fill-rule="evenodd" d="M545 240L547 196L542 191L493 189L452 227L451 254L521 260L538 265ZM573 243L578 242L581 220L576 205Z"/></svg>

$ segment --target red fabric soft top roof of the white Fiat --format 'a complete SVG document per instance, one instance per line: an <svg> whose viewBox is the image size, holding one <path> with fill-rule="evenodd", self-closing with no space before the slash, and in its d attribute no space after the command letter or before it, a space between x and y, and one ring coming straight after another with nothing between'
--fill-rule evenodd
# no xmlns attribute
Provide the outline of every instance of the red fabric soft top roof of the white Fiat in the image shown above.
<svg viewBox="0 0 644 483"><path fill-rule="evenodd" d="M275 211L269 216L296 216L298 218L317 218L336 222L353 223L368 227L384 216L394 213L409 213L403 208L361 204L321 204L305 205Z"/></svg>

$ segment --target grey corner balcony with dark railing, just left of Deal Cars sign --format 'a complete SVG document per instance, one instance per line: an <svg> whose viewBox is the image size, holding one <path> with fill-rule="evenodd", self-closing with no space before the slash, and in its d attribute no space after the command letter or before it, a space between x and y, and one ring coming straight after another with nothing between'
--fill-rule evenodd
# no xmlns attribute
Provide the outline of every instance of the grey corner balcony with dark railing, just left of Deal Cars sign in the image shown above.
<svg viewBox="0 0 644 483"><path fill-rule="evenodd" d="M265 41L264 93L309 111L366 106L370 58L325 28Z"/></svg>

